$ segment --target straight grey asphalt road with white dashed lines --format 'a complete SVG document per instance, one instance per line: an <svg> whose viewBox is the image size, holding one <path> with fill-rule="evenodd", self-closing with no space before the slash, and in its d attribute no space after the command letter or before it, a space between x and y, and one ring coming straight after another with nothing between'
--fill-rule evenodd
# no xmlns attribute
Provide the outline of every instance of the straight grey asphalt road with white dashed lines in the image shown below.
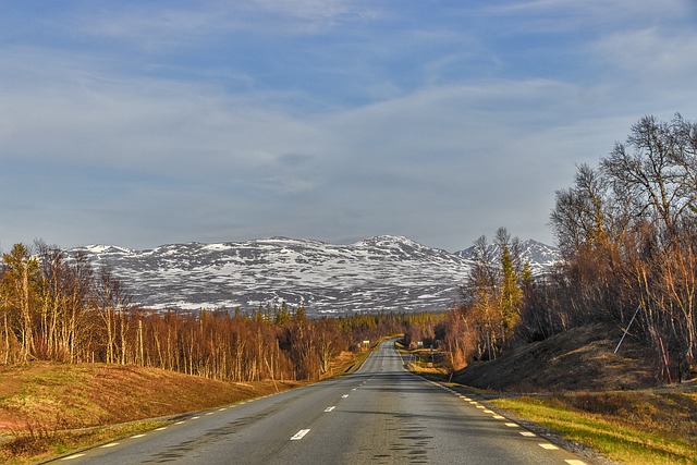
<svg viewBox="0 0 697 465"><path fill-rule="evenodd" d="M191 414L65 456L70 464L570 464L584 462L404 369L392 342L354 375Z"/></svg>

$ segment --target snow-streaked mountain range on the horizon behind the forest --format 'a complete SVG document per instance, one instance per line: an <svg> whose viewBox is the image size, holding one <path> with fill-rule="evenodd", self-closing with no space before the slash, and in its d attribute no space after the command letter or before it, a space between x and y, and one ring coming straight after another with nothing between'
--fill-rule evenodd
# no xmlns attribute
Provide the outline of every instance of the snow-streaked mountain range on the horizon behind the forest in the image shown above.
<svg viewBox="0 0 697 465"><path fill-rule="evenodd" d="M147 250L93 245L134 303L148 308L255 308L303 304L310 315L447 309L469 272L468 257L406 237L351 245L270 237L240 243L172 244Z"/></svg>

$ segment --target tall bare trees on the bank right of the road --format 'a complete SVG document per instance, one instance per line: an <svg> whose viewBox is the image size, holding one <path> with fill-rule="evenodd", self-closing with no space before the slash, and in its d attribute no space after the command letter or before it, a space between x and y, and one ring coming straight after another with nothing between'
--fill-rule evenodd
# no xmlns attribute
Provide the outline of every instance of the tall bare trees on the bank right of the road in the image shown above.
<svg viewBox="0 0 697 465"><path fill-rule="evenodd" d="M694 367L697 124L641 118L597 166L577 166L554 200L563 258L548 274L533 278L504 228L492 245L475 242L462 304L435 328L453 367L588 323L644 342L658 377Z"/></svg>

